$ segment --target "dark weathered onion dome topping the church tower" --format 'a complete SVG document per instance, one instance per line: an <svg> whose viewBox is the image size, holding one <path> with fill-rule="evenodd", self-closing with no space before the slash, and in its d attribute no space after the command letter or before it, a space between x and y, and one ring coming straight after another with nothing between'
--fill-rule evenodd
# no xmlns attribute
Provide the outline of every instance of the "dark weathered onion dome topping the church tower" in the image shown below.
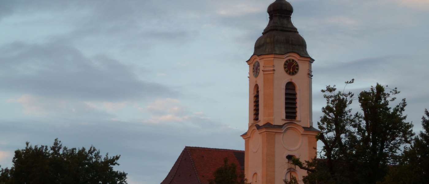
<svg viewBox="0 0 429 184"><path fill-rule="evenodd" d="M295 52L310 57L307 44L293 26L290 16L292 5L286 0L276 0L268 6L269 23L255 43L254 55L287 54Z"/></svg>

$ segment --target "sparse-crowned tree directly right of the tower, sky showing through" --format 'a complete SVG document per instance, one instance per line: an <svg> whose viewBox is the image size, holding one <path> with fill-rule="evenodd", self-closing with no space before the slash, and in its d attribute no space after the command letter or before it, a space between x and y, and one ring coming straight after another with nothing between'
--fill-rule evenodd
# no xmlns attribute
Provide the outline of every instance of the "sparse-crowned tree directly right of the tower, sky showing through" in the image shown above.
<svg viewBox="0 0 429 184"><path fill-rule="evenodd" d="M353 80L346 82L346 84L352 83ZM323 160L314 158L311 161L305 161L304 164L299 158L293 158L293 164L308 171L308 175L303 178L303 181L308 184L351 183L353 181L351 172L354 167L347 166L351 165L351 159L344 157L349 150L345 137L352 134L352 125L359 123L362 119L358 113L353 115L352 109L349 108L356 98L351 92L337 91L335 85L326 86L326 89L321 91L324 93L326 106L322 108L323 116L317 122L321 132L316 138L323 142L321 150L323 154L320 155ZM346 160L350 164L347 164Z"/></svg>

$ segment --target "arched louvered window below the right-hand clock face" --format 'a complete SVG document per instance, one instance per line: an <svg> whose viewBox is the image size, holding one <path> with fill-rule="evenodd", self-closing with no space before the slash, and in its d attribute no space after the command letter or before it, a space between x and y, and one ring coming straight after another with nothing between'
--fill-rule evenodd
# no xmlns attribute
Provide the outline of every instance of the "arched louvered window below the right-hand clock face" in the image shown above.
<svg viewBox="0 0 429 184"><path fill-rule="evenodd" d="M295 84L288 82L284 95L284 111L286 119L296 120L296 89Z"/></svg>

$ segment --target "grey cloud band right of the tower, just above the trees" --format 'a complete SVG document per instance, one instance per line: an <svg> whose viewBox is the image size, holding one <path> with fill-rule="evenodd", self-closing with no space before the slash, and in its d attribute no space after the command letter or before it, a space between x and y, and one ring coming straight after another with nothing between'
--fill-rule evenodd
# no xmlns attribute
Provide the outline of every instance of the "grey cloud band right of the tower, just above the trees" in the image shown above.
<svg viewBox="0 0 429 184"><path fill-rule="evenodd" d="M417 77L427 78L429 74L426 68L420 67L426 64L424 55L387 55L381 57L367 57L359 60L344 60L341 63L319 61L313 66L316 80L323 78L348 78L374 79L379 82L387 82L391 85L411 84ZM323 63L325 62L325 63ZM321 75L321 76L317 76ZM407 86L409 87L409 86Z"/></svg>

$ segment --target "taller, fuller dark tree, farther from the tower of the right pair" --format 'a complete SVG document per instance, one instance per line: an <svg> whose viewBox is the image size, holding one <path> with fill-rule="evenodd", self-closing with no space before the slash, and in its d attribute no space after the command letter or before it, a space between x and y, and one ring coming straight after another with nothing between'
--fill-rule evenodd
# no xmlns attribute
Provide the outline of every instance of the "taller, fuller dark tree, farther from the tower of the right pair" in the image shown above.
<svg viewBox="0 0 429 184"><path fill-rule="evenodd" d="M358 139L355 151L356 156L363 159L359 172L366 177L363 181L368 183L384 178L389 165L395 164L398 151L404 144L411 143L414 136L413 124L405 122L407 116L403 115L407 106L405 99L393 108L389 106L396 100L393 97L396 94L399 94L396 88L387 93L385 87L377 84L359 95L364 121L356 125Z"/></svg>

